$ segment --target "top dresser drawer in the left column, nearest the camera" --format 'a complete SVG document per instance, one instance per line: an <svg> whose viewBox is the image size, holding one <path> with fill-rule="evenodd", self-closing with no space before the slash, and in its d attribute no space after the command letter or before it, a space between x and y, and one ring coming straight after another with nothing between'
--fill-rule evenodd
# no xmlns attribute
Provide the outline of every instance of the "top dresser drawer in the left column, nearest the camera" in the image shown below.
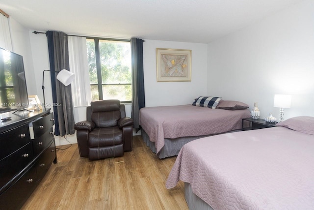
<svg viewBox="0 0 314 210"><path fill-rule="evenodd" d="M28 124L0 134L0 160L30 142Z"/></svg>

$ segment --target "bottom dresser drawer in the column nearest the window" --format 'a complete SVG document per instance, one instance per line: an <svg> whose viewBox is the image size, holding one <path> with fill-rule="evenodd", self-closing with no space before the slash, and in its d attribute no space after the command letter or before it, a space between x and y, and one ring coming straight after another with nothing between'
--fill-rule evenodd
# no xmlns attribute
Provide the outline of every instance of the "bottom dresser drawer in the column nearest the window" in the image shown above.
<svg viewBox="0 0 314 210"><path fill-rule="evenodd" d="M55 158L55 144L52 141L49 148L40 155L38 161L36 161L36 168L37 168L37 177L38 180L41 180L44 175L46 174L47 170L51 166L54 158Z"/></svg>

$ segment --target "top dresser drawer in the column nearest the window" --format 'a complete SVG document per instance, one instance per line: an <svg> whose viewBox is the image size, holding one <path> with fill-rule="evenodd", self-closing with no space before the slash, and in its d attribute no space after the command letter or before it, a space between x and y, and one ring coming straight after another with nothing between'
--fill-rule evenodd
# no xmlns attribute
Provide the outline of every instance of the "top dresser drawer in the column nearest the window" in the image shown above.
<svg viewBox="0 0 314 210"><path fill-rule="evenodd" d="M43 118L33 121L34 137L39 138L46 133L54 124L53 113L46 115Z"/></svg>

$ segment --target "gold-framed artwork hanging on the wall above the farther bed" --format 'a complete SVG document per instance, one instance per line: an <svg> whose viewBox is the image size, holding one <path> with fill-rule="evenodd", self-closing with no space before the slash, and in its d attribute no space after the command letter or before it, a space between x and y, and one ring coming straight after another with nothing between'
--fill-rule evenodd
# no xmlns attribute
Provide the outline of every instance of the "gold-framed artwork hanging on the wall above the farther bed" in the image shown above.
<svg viewBox="0 0 314 210"><path fill-rule="evenodd" d="M156 48L157 82L191 81L191 50Z"/></svg>

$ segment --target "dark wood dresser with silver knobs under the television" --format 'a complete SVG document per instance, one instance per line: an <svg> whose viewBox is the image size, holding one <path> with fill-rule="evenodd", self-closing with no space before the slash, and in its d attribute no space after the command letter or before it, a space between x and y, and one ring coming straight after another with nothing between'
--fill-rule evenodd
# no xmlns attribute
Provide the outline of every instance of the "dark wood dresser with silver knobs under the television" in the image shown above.
<svg viewBox="0 0 314 210"><path fill-rule="evenodd" d="M50 111L9 112L11 119L0 121L1 210L20 209L57 163Z"/></svg>

